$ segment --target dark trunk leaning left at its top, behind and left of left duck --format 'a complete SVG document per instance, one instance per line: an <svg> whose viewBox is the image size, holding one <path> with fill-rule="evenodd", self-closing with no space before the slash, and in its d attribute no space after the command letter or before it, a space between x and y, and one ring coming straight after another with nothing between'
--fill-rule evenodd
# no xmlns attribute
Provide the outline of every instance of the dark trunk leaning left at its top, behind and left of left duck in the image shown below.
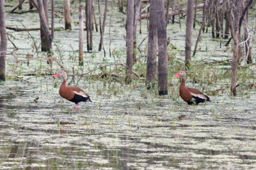
<svg viewBox="0 0 256 170"><path fill-rule="evenodd" d="M45 14L45 8L43 6L42 0L37 0L38 3L38 13L40 17L40 25L41 25L41 34L42 34L42 41L45 43L45 50L47 52L47 62L52 67L52 38ZM42 43L41 43L42 45Z"/></svg>

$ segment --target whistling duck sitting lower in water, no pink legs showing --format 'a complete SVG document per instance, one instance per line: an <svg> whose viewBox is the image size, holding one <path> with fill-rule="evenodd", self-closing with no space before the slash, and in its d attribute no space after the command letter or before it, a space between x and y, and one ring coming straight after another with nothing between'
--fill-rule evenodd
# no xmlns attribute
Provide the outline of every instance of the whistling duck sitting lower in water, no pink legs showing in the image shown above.
<svg viewBox="0 0 256 170"><path fill-rule="evenodd" d="M175 77L181 76L182 81L180 83L180 97L188 104L204 103L210 101L210 98L205 94L202 94L199 90L185 87L187 73L184 70L180 70Z"/></svg>

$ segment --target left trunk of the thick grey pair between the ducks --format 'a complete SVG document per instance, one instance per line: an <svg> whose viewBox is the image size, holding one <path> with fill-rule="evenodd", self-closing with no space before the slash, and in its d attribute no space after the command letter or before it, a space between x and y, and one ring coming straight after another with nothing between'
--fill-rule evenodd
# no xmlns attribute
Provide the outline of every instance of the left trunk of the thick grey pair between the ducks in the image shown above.
<svg viewBox="0 0 256 170"><path fill-rule="evenodd" d="M156 82L156 57L157 57L157 11L156 0L150 1L148 53L147 53L147 88L154 87Z"/></svg>

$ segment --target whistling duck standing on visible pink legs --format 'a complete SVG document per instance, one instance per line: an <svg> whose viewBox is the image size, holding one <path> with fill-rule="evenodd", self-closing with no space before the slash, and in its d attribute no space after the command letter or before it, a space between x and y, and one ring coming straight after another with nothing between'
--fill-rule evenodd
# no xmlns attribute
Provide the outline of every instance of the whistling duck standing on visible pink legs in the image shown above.
<svg viewBox="0 0 256 170"><path fill-rule="evenodd" d="M67 86L66 85L66 81L68 79L68 74L66 71L61 70L59 73L54 74L55 76L61 76L64 78L63 82L61 83L60 86L60 90L59 90L59 94L61 97L67 99L68 101L74 102L76 103L76 106L74 106L73 108L75 110L77 110L78 107L78 103L83 101L91 101L90 96L88 94L86 94L86 92L84 92L82 89L80 89L79 87L75 87L75 86Z"/></svg>

